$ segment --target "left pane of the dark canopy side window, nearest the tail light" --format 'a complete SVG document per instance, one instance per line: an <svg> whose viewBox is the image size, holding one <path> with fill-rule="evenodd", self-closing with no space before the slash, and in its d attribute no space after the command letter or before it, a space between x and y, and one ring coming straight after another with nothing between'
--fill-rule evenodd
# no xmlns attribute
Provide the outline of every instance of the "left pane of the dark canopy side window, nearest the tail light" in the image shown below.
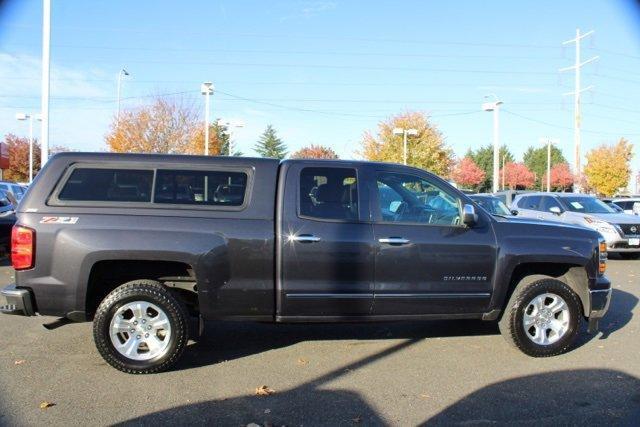
<svg viewBox="0 0 640 427"><path fill-rule="evenodd" d="M152 170L77 168L58 195L64 201L150 202Z"/></svg>

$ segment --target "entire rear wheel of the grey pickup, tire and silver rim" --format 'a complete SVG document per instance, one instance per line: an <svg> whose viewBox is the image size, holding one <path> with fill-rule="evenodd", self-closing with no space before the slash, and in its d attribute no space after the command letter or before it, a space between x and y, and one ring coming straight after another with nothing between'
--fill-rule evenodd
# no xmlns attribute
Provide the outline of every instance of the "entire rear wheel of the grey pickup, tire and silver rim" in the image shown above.
<svg viewBox="0 0 640 427"><path fill-rule="evenodd" d="M100 355L130 374L168 369L182 354L188 336L183 305L152 280L134 280L113 290L100 303L93 322Z"/></svg>

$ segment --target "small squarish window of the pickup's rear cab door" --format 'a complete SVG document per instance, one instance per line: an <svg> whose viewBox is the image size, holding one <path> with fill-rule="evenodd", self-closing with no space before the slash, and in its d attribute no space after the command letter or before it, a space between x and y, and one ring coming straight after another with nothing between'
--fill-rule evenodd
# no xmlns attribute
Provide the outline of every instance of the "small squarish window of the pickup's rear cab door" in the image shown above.
<svg viewBox="0 0 640 427"><path fill-rule="evenodd" d="M358 219L358 182L350 168L304 168L300 172L300 215Z"/></svg>

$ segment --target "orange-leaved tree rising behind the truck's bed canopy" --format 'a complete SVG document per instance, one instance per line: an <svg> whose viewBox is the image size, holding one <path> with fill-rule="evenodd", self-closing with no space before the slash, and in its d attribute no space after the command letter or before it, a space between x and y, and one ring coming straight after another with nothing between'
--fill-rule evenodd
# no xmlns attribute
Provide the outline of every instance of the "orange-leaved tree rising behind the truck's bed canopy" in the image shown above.
<svg viewBox="0 0 640 427"><path fill-rule="evenodd" d="M120 113L105 139L117 153L196 154L198 128L193 108L158 98L151 105Z"/></svg>

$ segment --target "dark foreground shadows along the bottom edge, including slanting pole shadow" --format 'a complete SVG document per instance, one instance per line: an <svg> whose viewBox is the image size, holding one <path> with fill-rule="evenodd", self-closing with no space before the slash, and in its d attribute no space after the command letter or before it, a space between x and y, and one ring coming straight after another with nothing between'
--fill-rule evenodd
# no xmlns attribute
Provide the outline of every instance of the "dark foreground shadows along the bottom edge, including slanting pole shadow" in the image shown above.
<svg viewBox="0 0 640 427"><path fill-rule="evenodd" d="M393 425L391 414L378 413L367 396L350 390L332 390L326 384L417 340L407 340L290 390L258 396L238 396L170 408L127 420L119 425ZM438 390L440 385L429 384ZM405 396L407 399L415 396ZM408 402L410 405L411 403ZM509 379L475 391L437 412L433 402L412 409L425 421L417 425L634 425L640 419L640 380L605 369L566 370ZM268 408L268 411L265 410ZM397 415L396 415L397 416ZM410 417L410 415L408 415Z"/></svg>

